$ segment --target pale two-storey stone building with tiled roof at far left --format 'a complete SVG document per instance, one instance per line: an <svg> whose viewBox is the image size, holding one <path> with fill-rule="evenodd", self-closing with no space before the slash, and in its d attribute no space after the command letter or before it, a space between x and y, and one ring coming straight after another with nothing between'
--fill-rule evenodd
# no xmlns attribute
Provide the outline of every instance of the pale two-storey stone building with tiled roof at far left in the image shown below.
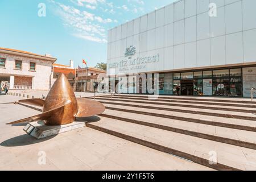
<svg viewBox="0 0 256 182"><path fill-rule="evenodd" d="M49 90L55 61L51 55L0 48L0 82L10 90Z"/></svg>

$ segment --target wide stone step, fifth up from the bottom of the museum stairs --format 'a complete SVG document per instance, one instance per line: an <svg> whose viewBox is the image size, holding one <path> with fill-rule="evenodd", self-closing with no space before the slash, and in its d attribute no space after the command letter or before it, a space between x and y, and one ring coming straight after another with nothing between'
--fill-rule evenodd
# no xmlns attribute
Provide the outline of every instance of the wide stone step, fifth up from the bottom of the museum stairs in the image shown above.
<svg viewBox="0 0 256 182"><path fill-rule="evenodd" d="M163 106L176 106L176 107L190 107L190 108L199 108L199 109L210 109L210 110L223 110L223 111L234 111L240 113L256 113L256 106L255 108L241 108L239 106L221 106L216 107L207 104L186 104L183 102L163 102L163 101L152 101L152 100L133 100L132 98L100 98L97 97L99 101L118 101L118 102L130 102L130 103L140 103L140 104L151 104L151 105L163 105Z"/></svg>

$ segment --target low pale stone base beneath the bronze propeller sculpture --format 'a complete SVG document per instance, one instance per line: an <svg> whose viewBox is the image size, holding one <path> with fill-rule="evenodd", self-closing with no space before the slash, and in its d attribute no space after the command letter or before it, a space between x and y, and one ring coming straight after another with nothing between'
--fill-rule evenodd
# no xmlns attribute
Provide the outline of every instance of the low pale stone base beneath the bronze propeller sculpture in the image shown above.
<svg viewBox="0 0 256 182"><path fill-rule="evenodd" d="M80 129L85 126L85 122L73 122L71 124L61 126L47 126L44 125L44 122L40 121L28 123L23 130L32 137L42 139L67 131Z"/></svg>

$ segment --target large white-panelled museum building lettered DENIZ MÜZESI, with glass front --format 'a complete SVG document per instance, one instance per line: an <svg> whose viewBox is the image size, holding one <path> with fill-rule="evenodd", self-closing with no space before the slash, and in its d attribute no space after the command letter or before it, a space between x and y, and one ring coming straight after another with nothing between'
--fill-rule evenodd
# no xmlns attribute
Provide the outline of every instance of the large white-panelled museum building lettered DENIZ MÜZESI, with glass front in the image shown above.
<svg viewBox="0 0 256 182"><path fill-rule="evenodd" d="M160 94L250 97L255 7L255 0L181 0L115 27L107 74L159 73Z"/></svg>

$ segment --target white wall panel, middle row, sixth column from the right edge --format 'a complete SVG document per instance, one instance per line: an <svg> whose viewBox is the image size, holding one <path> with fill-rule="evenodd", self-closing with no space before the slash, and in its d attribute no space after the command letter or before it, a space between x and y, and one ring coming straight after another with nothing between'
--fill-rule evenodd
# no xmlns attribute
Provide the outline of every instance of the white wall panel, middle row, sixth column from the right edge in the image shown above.
<svg viewBox="0 0 256 182"><path fill-rule="evenodd" d="M184 20L174 23L174 44L184 43Z"/></svg>

